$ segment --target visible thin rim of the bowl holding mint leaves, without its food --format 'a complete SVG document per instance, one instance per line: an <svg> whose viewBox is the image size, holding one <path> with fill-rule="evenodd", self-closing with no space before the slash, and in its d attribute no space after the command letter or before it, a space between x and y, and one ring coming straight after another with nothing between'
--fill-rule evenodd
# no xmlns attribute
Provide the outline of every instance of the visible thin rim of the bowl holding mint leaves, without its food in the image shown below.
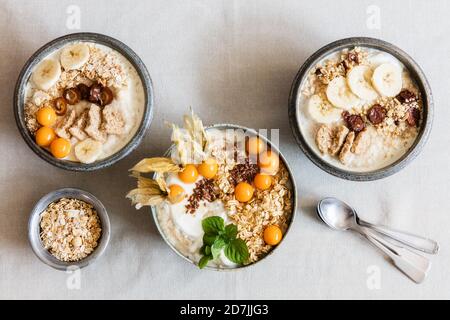
<svg viewBox="0 0 450 320"><path fill-rule="evenodd" d="M266 137L262 136L262 135L258 135L258 133L250 128L246 128L243 126L239 126L239 125L234 125L234 124L216 124L216 125L212 125L206 128L206 131L208 130L227 130L227 129L232 129L232 130L242 130L246 135L248 136L259 136L264 142L267 143L267 146L270 146L270 148L272 150L274 150L276 153L278 153L280 160L284 163L287 171L289 172L289 178L290 178L290 182L291 182L291 191L292 191L292 215L291 215L291 220L289 222L289 226L285 232L285 234L283 235L283 239L282 241L276 246L274 247L267 255L265 255L263 258L261 258L260 260L258 260L255 263L252 264L248 264L248 265L243 265L243 266L239 266L237 268L222 268L222 267L212 267L212 266L207 266L204 269L208 269L208 270L215 270L215 271L233 271L233 270L240 270L240 269L244 269L244 268L248 268L250 266L253 266L257 263L260 263L261 261L265 260L267 257L272 256L274 254L274 252L278 249L279 246L282 245L283 242L285 242L286 240L286 236L289 232L289 230L292 227L292 224L294 222L295 219L295 214L297 212L297 186L295 183L295 179L294 179L294 175L293 175L293 171L291 170L288 162L286 161L285 157L283 156L283 154L280 152L280 150L277 148L277 146L275 146L274 144L272 144L270 142L270 140L268 140ZM166 152L165 156L170 157L171 151L172 151L173 146ZM167 235L164 233L160 223L159 223L159 219L157 216L157 209L156 207L152 206L151 207L151 212L152 212L152 216L153 216L153 220L156 224L156 227L158 228L158 231L161 235L161 237L164 239L164 241L167 243L167 245L176 253L178 254L181 258L183 258L185 261L190 262L193 265L197 265L197 263L195 261L192 261L191 259L189 259L188 257L186 257L183 253L181 253L176 247L175 245L173 245L170 241L170 239L167 237Z"/></svg>

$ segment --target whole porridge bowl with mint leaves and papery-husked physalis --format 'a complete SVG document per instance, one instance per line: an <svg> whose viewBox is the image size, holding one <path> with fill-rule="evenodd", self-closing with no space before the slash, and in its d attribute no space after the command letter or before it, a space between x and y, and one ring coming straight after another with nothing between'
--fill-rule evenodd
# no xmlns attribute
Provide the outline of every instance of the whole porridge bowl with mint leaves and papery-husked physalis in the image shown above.
<svg viewBox="0 0 450 320"><path fill-rule="evenodd" d="M281 245L292 225L292 172L256 131L229 124L203 129L192 116L184 129L174 127L165 157L132 169L138 188L128 198L136 208L151 206L161 236L184 260L211 270L254 265Z"/></svg>

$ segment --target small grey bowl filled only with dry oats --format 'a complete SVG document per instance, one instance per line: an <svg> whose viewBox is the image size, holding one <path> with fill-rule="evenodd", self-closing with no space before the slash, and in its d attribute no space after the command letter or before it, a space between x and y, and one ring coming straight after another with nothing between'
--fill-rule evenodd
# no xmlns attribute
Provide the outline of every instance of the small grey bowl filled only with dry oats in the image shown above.
<svg viewBox="0 0 450 320"><path fill-rule="evenodd" d="M42 197L28 222L36 256L58 269L83 268L105 251L110 222L103 204L91 193L64 188Z"/></svg>

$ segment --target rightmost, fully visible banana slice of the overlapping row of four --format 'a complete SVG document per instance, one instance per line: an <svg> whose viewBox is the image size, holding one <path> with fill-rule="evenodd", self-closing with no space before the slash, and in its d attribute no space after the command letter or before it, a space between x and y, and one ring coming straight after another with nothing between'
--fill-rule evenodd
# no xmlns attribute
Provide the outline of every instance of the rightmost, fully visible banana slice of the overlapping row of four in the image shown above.
<svg viewBox="0 0 450 320"><path fill-rule="evenodd" d="M402 90L401 69L391 63L379 65L372 75L372 84L377 91L386 97L394 97Z"/></svg>

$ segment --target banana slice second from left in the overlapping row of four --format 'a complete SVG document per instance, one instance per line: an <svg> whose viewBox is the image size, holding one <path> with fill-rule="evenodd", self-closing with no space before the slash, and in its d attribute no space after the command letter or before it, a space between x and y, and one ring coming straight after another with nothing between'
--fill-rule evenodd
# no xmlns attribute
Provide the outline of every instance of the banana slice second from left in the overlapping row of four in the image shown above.
<svg viewBox="0 0 450 320"><path fill-rule="evenodd" d="M344 77L336 77L331 80L327 86L326 94L328 100L336 108L350 110L359 103L358 97L350 91Z"/></svg>

